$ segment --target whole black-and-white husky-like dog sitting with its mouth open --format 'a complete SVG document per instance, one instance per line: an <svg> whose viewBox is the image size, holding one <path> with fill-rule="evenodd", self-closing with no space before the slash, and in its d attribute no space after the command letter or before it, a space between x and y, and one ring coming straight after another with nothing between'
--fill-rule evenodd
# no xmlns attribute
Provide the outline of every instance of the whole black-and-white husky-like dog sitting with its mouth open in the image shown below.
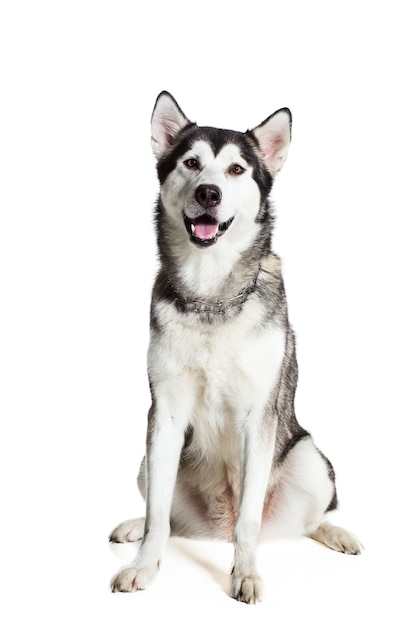
<svg viewBox="0 0 417 626"><path fill-rule="evenodd" d="M151 408L138 476L145 519L112 542L142 539L113 591L145 589L170 535L231 541L231 594L262 599L260 540L308 536L359 554L326 514L335 474L294 412L295 338L270 193L291 141L279 109L247 132L190 122L166 91L152 114L160 268L151 302Z"/></svg>

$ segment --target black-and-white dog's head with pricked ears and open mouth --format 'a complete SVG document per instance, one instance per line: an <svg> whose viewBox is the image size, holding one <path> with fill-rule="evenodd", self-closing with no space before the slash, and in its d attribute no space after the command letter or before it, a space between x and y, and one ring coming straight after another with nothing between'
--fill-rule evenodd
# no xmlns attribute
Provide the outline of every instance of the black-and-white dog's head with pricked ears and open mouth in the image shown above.
<svg viewBox="0 0 417 626"><path fill-rule="evenodd" d="M151 124L161 200L173 236L182 234L209 248L228 233L238 248L250 245L254 225L260 228L265 217L273 178L287 157L290 111L280 109L245 133L200 127L164 91Z"/></svg>

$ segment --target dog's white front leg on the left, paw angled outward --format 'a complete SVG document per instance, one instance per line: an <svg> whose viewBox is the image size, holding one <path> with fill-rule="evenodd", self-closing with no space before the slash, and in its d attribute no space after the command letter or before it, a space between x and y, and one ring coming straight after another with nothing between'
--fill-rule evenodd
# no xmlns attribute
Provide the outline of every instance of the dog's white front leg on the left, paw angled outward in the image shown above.
<svg viewBox="0 0 417 626"><path fill-rule="evenodd" d="M138 556L112 582L113 591L146 589L155 578L170 534L170 510L178 462L184 443L184 420L154 402L147 434L145 530Z"/></svg>

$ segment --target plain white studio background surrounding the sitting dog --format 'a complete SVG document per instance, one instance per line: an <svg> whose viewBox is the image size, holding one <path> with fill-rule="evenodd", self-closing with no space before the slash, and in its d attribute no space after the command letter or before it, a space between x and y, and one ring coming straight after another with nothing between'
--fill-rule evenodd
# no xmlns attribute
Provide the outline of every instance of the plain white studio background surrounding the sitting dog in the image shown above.
<svg viewBox="0 0 417 626"><path fill-rule="evenodd" d="M412 5L1 4L2 623L416 623ZM107 534L143 512L162 89L205 125L294 117L274 203L297 412L367 549L262 546L256 607L228 597L231 546L184 540L152 589L109 593L132 553Z"/></svg>

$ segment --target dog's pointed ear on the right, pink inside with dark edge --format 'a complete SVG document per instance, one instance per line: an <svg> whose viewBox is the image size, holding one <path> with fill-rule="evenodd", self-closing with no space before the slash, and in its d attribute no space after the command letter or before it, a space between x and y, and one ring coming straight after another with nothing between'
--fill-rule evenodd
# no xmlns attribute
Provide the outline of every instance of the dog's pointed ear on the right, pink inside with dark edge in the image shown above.
<svg viewBox="0 0 417 626"><path fill-rule="evenodd" d="M279 172L287 158L291 123L291 111L279 109L251 131L258 140L261 157L272 176Z"/></svg>

